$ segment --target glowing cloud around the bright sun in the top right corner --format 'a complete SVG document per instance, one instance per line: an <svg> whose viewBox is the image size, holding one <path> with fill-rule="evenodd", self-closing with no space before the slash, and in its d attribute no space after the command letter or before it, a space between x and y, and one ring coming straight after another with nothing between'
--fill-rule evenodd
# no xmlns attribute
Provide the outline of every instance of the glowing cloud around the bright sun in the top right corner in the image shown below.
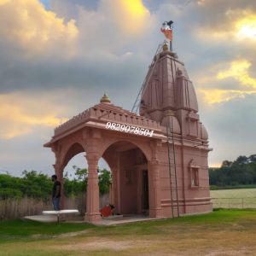
<svg viewBox="0 0 256 256"><path fill-rule="evenodd" d="M240 8L239 4L233 2L229 6L225 3L219 4L212 1L201 1L199 6L205 15L209 15L202 26L196 26L195 31L204 41L229 41L244 43L256 40L256 6L244 3ZM229 2L229 1L227 1ZM247 1L248 2L248 1ZM218 15L212 17L214 12L210 8L219 9ZM221 9L220 9L221 8ZM217 11L216 9L216 11ZM211 12L211 13L210 13Z"/></svg>

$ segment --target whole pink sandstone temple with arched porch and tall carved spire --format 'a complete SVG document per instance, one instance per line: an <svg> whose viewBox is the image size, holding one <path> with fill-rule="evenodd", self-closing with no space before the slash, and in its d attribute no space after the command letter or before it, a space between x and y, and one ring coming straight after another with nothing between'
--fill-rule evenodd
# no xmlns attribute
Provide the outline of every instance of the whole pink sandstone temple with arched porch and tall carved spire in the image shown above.
<svg viewBox="0 0 256 256"><path fill-rule="evenodd" d="M101 219L101 158L111 169L110 203L116 213L175 218L212 211L207 130L184 64L166 44L154 55L139 99L138 115L104 95L99 104L57 127L44 144L55 153L60 181L68 161L85 153L89 174L84 220Z"/></svg>

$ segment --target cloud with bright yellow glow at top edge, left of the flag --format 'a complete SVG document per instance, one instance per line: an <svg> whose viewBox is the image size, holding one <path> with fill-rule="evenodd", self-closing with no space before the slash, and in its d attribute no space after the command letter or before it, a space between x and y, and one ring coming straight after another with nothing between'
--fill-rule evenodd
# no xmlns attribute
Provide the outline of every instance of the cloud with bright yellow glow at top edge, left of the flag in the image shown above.
<svg viewBox="0 0 256 256"><path fill-rule="evenodd" d="M143 0L101 0L95 3L75 0L52 0L51 6L55 13L64 15L68 19L73 15L73 19L78 21L79 26L83 27L86 34L90 30L100 26L100 34L95 33L98 38L107 32L111 36L115 32L125 38L140 36L148 31L151 25L151 14L144 5ZM94 8L91 8L93 6ZM84 24L84 20L90 24ZM93 26L92 26L93 25ZM96 29L96 32L97 29ZM108 37L109 37L108 33Z"/></svg>

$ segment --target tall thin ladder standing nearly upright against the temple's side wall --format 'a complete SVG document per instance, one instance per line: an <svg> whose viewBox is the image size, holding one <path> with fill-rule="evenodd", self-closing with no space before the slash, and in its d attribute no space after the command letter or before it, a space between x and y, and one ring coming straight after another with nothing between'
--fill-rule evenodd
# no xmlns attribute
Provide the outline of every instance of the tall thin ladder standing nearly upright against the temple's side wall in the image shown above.
<svg viewBox="0 0 256 256"><path fill-rule="evenodd" d="M167 148L168 148L168 165L169 165L169 181L170 181L172 218L175 218L175 217L179 218L176 157L175 157L175 145L174 145L172 119L171 119L171 124L168 122L168 125L166 126L166 137L167 137ZM171 143L172 143L172 148L171 148ZM173 157L173 166L172 166L172 157ZM176 201L176 204L174 203L174 201ZM175 216L174 208L177 208L177 216Z"/></svg>

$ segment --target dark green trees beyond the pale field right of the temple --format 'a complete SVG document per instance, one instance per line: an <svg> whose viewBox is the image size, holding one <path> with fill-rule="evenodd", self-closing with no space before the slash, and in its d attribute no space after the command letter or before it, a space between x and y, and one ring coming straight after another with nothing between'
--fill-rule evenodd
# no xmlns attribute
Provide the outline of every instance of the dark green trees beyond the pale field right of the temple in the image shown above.
<svg viewBox="0 0 256 256"><path fill-rule="evenodd" d="M221 167L209 168L209 178L212 189L256 187L256 154L241 155L235 161L224 160Z"/></svg>

